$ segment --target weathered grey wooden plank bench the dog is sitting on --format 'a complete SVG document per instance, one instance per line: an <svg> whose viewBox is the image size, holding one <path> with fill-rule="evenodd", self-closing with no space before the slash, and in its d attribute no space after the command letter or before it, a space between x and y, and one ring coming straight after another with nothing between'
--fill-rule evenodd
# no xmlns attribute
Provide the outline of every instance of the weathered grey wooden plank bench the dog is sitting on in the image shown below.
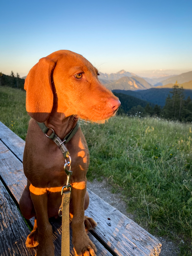
<svg viewBox="0 0 192 256"><path fill-rule="evenodd" d="M19 211L19 199L27 184L22 165L24 147L25 141L0 122L0 255L36 253L36 248L25 246L28 227L33 229L34 219L26 222ZM89 189L88 192L86 215L98 223L88 235L97 247L97 255L159 255L161 243L154 236ZM50 219L50 223L55 255L61 255L61 218ZM70 255L74 255L70 244Z"/></svg>

